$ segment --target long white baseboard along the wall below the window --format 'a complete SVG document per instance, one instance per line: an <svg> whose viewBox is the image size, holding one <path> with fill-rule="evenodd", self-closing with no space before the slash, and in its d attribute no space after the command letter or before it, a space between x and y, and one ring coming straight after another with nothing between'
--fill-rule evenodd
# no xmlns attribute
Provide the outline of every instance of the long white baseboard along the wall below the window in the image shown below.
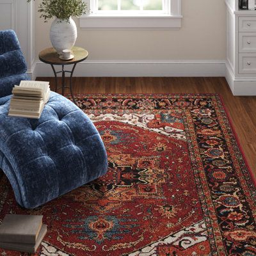
<svg viewBox="0 0 256 256"><path fill-rule="evenodd" d="M36 61L33 76L52 77L51 66ZM56 66L55 66L56 67ZM68 68L68 67L66 67ZM85 60L77 64L76 77L211 77L225 76L223 60Z"/></svg>

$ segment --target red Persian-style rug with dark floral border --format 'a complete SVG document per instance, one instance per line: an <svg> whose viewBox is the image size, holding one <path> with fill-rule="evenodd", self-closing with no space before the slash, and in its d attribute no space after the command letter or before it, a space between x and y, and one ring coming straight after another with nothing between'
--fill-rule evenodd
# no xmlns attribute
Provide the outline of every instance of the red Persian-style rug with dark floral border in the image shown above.
<svg viewBox="0 0 256 256"><path fill-rule="evenodd" d="M102 136L108 173L33 211L0 179L1 220L44 215L37 255L256 255L255 184L218 95L77 101Z"/></svg>

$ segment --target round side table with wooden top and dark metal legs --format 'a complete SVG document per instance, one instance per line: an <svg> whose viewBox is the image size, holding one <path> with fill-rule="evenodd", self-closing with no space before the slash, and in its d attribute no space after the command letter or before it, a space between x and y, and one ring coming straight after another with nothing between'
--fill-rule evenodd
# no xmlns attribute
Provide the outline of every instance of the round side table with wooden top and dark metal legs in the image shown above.
<svg viewBox="0 0 256 256"><path fill-rule="evenodd" d="M70 89L70 93L72 96L72 99L74 101L74 103L76 104L76 100L74 99L74 95L72 92L72 76L74 73L74 70L76 68L77 63L86 60L86 58L88 57L88 51L86 51L85 49L81 48L81 47L73 47L71 49L72 54L74 55L74 58L72 60L61 60L59 58L59 54L56 52L56 50L54 48L47 48L44 49L43 51L41 51L39 53L39 60L50 64L52 67L52 70L54 72L54 76L55 76L55 92L61 88L62 89L62 95L64 95L64 90L65 88L69 88ZM61 71L56 72L54 65L61 65ZM67 71L65 70L65 65L73 65L72 67L72 71ZM61 73L61 87L57 88L58 85L58 81L57 81L57 74ZM66 86L65 83L65 73L70 73L70 77L69 77L69 87Z"/></svg>

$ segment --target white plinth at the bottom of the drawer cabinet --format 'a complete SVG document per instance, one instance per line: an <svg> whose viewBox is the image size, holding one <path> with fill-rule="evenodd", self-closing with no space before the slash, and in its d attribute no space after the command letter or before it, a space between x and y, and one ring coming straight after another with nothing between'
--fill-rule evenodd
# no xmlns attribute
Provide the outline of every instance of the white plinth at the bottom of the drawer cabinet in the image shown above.
<svg viewBox="0 0 256 256"><path fill-rule="evenodd" d="M256 95L256 77L255 78L235 78L228 63L226 65L226 80L234 96L255 96Z"/></svg>

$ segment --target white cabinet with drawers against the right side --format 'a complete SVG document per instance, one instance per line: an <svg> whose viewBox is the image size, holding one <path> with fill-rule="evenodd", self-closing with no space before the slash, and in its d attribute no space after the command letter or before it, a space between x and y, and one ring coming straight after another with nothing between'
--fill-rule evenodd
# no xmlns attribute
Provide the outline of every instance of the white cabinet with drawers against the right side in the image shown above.
<svg viewBox="0 0 256 256"><path fill-rule="evenodd" d="M226 79L234 95L256 95L256 10L227 5Z"/></svg>

